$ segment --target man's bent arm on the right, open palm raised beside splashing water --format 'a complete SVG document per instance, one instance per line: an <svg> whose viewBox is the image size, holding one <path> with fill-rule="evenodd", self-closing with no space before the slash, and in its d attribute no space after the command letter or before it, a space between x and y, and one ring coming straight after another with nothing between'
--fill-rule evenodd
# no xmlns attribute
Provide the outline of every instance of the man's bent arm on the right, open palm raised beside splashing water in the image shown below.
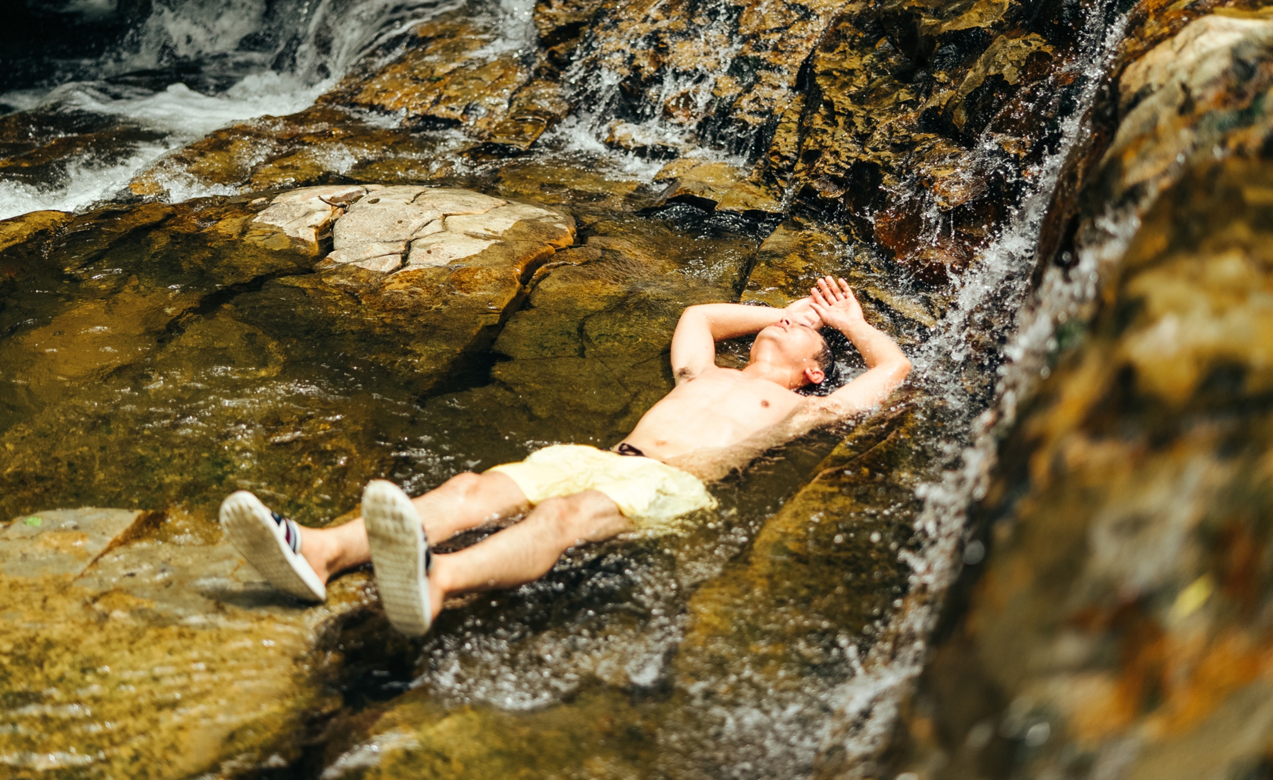
<svg viewBox="0 0 1273 780"><path fill-rule="evenodd" d="M910 360L897 344L862 317L849 282L827 276L813 289L813 310L822 322L844 333L862 352L867 373L824 398L810 398L816 412L815 425L827 425L878 406L910 373Z"/></svg>

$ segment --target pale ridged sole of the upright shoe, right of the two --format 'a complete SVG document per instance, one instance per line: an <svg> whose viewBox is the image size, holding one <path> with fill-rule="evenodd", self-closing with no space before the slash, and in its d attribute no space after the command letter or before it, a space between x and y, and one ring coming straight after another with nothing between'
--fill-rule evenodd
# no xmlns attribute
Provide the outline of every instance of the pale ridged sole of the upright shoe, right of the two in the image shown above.
<svg viewBox="0 0 1273 780"><path fill-rule="evenodd" d="M433 623L424 571L429 543L411 499L392 482L372 480L363 491L363 520L384 615L407 636L426 634Z"/></svg>

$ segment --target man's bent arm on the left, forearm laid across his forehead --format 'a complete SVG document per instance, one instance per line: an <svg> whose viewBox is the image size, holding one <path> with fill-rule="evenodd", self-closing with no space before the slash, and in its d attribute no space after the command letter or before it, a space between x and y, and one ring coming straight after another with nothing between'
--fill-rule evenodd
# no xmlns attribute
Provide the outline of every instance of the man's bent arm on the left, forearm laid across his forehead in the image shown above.
<svg viewBox="0 0 1273 780"><path fill-rule="evenodd" d="M680 384L715 365L715 342L759 333L783 317L803 317L808 324L821 327L812 313L810 299L803 298L785 309L742 305L738 303L701 303L681 313L672 335L672 375Z"/></svg>

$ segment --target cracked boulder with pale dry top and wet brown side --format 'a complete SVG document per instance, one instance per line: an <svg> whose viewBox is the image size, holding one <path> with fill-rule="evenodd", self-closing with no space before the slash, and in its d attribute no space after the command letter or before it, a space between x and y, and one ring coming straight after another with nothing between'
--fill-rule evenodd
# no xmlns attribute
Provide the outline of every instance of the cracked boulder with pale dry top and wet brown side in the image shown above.
<svg viewBox="0 0 1273 780"><path fill-rule="evenodd" d="M421 210L437 219L425 221ZM374 229L397 229L400 219L396 235ZM574 243L574 220L556 209L423 186L368 187L332 232L335 248L312 266L317 274L271 280L261 294L269 305L247 294L237 309L257 327L300 327L326 347L356 352L420 393L486 349L536 270Z"/></svg>

